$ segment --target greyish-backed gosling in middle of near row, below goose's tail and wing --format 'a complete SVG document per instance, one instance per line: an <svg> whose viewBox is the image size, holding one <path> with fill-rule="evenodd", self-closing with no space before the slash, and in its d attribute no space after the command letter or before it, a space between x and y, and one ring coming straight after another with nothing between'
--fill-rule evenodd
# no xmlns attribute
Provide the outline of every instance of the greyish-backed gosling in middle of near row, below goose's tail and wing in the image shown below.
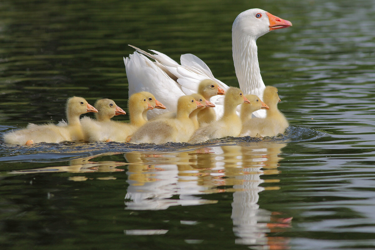
<svg viewBox="0 0 375 250"><path fill-rule="evenodd" d="M193 96L181 96L177 102L176 118L151 120L132 134L130 142L155 143L187 142L195 131L195 125L189 114L203 107Z"/></svg>

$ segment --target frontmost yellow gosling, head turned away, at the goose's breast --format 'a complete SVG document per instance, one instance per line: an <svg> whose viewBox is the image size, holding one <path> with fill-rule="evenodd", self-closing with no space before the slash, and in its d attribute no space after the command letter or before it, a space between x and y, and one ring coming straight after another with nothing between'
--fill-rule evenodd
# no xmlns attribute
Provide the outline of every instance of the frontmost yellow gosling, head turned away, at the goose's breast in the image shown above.
<svg viewBox="0 0 375 250"><path fill-rule="evenodd" d="M267 86L263 95L264 102L269 106L265 118L252 118L243 123L240 136L277 136L285 132L289 126L288 120L278 109L278 102L281 101L278 89Z"/></svg>

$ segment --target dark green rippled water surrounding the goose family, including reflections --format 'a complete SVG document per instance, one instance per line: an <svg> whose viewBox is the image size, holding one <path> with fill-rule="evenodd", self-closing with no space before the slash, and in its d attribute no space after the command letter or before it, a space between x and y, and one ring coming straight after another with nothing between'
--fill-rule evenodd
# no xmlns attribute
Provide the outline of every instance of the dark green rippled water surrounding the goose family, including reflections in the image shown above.
<svg viewBox="0 0 375 250"><path fill-rule="evenodd" d="M375 248L374 1L3 0L0 133L57 122L73 95L126 108L127 44L238 86L231 26L249 8L293 23L257 42L283 136L2 143L0 248Z"/></svg>

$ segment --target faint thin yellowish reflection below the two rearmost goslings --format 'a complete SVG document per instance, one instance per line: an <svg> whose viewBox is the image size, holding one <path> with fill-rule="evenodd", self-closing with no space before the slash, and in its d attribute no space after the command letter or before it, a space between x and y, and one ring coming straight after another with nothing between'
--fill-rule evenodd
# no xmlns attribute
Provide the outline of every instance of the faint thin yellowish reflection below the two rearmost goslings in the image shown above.
<svg viewBox="0 0 375 250"><path fill-rule="evenodd" d="M126 163L117 161L90 161L93 158L102 157L110 154L99 154L95 156L77 158L69 161L68 166L53 166L53 167L43 167L38 169L25 169L12 171L13 174L27 174L27 173L51 173L51 172L69 172L69 173L89 173L89 172L118 172L124 171L123 169L118 169L118 166L124 166ZM85 176L70 176L69 180L72 181L85 181L88 178ZM115 179L113 176L107 177L97 177L96 179Z"/></svg>

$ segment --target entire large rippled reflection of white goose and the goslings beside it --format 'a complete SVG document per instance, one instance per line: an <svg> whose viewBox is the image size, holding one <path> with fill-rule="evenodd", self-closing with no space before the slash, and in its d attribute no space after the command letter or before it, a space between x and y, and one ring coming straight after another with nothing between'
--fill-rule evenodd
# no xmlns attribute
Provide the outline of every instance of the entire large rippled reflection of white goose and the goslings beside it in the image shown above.
<svg viewBox="0 0 375 250"><path fill-rule="evenodd" d="M270 233L290 227L292 218L282 218L281 213L261 209L257 204L261 191L279 188L279 180L264 180L261 176L279 173L282 159L279 154L285 145L261 141L160 155L126 153L124 157L129 162L126 209L159 210L216 203L203 199L202 194L233 192L231 219L235 243L286 249L288 238L273 237ZM261 187L264 182L270 184Z"/></svg>

